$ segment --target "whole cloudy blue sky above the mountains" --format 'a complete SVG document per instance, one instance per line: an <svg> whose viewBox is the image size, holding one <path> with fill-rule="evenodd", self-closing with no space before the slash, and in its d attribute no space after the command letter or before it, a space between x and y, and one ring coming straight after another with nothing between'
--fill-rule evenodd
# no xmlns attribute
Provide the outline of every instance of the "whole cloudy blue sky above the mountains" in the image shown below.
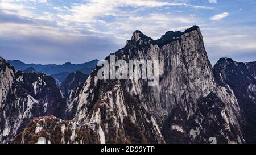
<svg viewBox="0 0 256 155"><path fill-rule="evenodd" d="M135 30L158 39L198 25L212 65L256 61L255 0L0 0L0 56L79 64L122 48Z"/></svg>

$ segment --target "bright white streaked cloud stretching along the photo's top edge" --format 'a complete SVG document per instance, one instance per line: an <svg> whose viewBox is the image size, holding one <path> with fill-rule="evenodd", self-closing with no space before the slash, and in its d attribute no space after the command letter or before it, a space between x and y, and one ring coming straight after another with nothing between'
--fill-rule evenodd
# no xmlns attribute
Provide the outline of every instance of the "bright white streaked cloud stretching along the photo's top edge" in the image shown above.
<svg viewBox="0 0 256 155"><path fill-rule="evenodd" d="M71 6L68 14L59 14L59 18L69 22L94 22L102 16L124 16L129 14L133 9L139 7L156 8L163 6L184 6L194 9L212 9L212 7L191 5L185 2L169 2L169 1L155 1L155 0L88 0L88 3L82 3ZM124 11L127 7L130 10Z"/></svg>

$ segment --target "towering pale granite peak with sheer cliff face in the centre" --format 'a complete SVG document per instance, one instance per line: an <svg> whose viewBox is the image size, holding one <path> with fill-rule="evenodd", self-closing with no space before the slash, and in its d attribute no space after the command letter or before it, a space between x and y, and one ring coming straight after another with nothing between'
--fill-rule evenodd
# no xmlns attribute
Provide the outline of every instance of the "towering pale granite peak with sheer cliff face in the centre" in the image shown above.
<svg viewBox="0 0 256 155"><path fill-rule="evenodd" d="M170 31L159 40L135 31L114 55L159 60L160 76L157 86L138 79L102 81L96 68L72 91L67 116L100 124L107 143L208 143L209 137L245 142L237 98L228 85L216 83L199 27Z"/></svg>

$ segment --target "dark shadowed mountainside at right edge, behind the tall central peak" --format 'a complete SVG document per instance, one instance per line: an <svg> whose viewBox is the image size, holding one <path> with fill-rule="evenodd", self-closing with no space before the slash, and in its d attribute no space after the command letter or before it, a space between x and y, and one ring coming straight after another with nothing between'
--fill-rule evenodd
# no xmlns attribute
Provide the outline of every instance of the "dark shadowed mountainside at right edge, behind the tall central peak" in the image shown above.
<svg viewBox="0 0 256 155"><path fill-rule="evenodd" d="M236 62L221 58L214 65L214 73L220 85L228 84L236 95L245 121L243 134L247 143L256 140L256 62Z"/></svg>

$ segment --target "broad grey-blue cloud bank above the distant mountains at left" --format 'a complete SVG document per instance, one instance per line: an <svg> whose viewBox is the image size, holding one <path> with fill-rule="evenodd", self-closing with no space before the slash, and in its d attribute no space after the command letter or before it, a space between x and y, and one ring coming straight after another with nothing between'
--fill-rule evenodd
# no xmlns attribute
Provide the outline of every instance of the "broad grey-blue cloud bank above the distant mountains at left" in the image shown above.
<svg viewBox="0 0 256 155"><path fill-rule="evenodd" d="M63 32L35 24L1 23L0 33L0 55L28 63L82 63L105 58L121 48L107 37Z"/></svg>

